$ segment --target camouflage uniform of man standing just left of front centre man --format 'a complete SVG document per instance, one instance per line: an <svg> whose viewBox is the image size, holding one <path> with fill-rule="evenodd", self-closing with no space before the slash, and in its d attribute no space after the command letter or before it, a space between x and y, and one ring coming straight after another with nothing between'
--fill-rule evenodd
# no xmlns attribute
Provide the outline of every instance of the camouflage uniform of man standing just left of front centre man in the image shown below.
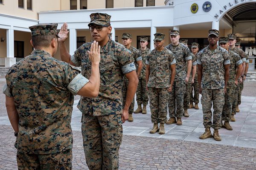
<svg viewBox="0 0 256 170"><path fill-rule="evenodd" d="M143 106L146 106L148 105L148 91L146 90L146 60L151 51L149 48L146 48L144 51L140 48L139 51L143 63L136 92L136 101L138 105L143 104Z"/></svg>

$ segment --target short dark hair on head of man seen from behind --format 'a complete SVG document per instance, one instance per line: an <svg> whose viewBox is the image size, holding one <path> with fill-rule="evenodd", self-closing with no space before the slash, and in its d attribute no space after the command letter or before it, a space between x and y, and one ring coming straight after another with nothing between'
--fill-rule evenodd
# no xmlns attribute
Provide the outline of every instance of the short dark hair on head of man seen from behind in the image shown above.
<svg viewBox="0 0 256 170"><path fill-rule="evenodd" d="M34 48L49 47L52 39L57 38L56 35L38 35L32 36Z"/></svg>

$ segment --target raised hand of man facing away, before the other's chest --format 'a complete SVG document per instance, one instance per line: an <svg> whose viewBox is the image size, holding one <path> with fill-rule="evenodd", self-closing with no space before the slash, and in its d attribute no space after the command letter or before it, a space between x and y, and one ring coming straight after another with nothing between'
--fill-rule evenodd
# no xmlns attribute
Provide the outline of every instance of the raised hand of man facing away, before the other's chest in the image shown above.
<svg viewBox="0 0 256 170"><path fill-rule="evenodd" d="M93 41L91 44L90 51L87 51L89 54L89 60L92 63L99 64L100 62L100 45L98 42Z"/></svg>

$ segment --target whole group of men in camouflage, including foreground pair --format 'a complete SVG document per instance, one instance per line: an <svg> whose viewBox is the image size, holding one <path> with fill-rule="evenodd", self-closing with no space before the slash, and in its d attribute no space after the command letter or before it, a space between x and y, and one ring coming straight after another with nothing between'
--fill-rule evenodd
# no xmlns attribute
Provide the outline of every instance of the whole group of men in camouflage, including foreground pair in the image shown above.
<svg viewBox="0 0 256 170"><path fill-rule="evenodd" d="M18 169L72 169L74 95L81 96L78 108L90 170L119 168L122 123L133 122L133 113L146 114L148 101L153 124L149 133L165 134L164 124L182 125L189 108L199 109L199 94L205 127L199 138L220 141L218 129L233 129L230 122L239 112L249 62L236 35L219 38L218 30L209 30L209 45L199 51L193 42L190 51L180 32L171 30L167 46L164 34L154 34L151 51L145 36L140 37L140 49L131 46L129 33L122 34L123 45L112 40L110 19L108 14L91 14L88 26L94 41L72 56L65 45L66 23L58 34L57 24L29 27L35 50L10 68L3 89L17 137ZM53 58L58 46L62 61Z"/></svg>

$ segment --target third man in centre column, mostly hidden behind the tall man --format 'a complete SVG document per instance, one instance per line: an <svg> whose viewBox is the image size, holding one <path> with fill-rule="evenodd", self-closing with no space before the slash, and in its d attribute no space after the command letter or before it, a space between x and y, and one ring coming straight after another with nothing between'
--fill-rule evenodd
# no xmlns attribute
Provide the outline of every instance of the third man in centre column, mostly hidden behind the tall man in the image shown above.
<svg viewBox="0 0 256 170"><path fill-rule="evenodd" d="M188 46L188 40L181 39L180 43ZM196 67L196 60L195 60L194 54L192 54L192 53L191 53L191 57L192 57L192 70L193 70L193 66L194 66L194 68ZM186 63L186 72L188 71L187 67L188 67L188 65ZM192 77L195 77L195 75L192 75L192 72L193 71L191 71L191 74L189 76L189 81L185 82L186 91L184 94L184 101L183 101L183 108L184 108L183 116L185 116L185 117L189 117L188 109L189 109L190 92L191 92L191 88L192 88Z"/></svg>

